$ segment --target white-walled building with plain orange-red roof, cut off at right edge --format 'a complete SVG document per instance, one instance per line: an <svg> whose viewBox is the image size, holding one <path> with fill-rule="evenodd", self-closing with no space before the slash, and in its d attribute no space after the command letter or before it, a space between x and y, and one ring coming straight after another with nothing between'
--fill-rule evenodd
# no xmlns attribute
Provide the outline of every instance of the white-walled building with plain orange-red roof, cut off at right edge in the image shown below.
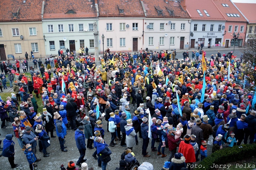
<svg viewBox="0 0 256 170"><path fill-rule="evenodd" d="M244 17L248 20L245 42L250 42L251 39L255 40L256 34L256 3L234 3L242 12Z"/></svg>

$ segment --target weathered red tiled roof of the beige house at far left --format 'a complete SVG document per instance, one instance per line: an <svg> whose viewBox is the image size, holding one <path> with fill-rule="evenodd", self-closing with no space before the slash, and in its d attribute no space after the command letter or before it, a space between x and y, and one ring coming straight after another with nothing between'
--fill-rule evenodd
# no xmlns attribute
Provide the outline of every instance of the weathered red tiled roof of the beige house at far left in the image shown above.
<svg viewBox="0 0 256 170"><path fill-rule="evenodd" d="M41 10L42 0L0 0L0 21L41 21Z"/></svg>

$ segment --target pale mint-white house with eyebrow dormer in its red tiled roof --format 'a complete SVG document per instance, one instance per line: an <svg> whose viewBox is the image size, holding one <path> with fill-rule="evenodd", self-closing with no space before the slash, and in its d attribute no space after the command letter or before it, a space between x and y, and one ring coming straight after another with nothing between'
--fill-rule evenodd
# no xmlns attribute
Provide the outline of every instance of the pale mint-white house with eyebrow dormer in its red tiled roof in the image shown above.
<svg viewBox="0 0 256 170"><path fill-rule="evenodd" d="M88 47L94 54L94 21L98 22L94 0L46 0L43 6L42 27L46 55ZM98 24L99 28L99 24ZM99 42L96 42L99 44Z"/></svg>

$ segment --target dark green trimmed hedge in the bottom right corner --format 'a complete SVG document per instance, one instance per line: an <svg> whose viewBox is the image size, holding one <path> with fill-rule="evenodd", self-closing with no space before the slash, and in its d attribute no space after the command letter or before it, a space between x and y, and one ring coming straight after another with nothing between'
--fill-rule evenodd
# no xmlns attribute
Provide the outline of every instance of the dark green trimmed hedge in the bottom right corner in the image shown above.
<svg viewBox="0 0 256 170"><path fill-rule="evenodd" d="M212 169L213 164L221 165L228 164L230 162L235 162L243 158L248 158L256 155L256 144L244 144L241 145L243 148L238 148L240 146L234 146L232 148L223 148L221 150L215 151L210 156L204 158L202 162L199 163L202 169L208 170Z"/></svg>

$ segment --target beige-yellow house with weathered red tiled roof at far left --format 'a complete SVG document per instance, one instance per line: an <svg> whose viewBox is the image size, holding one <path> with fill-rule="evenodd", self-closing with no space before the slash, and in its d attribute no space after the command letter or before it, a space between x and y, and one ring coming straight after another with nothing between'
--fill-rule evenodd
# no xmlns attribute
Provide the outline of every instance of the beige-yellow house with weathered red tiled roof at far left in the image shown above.
<svg viewBox="0 0 256 170"><path fill-rule="evenodd" d="M0 6L1 60L8 56L12 60L13 54L23 61L25 53L31 55L31 50L35 57L44 56L42 0L1 0Z"/></svg>

